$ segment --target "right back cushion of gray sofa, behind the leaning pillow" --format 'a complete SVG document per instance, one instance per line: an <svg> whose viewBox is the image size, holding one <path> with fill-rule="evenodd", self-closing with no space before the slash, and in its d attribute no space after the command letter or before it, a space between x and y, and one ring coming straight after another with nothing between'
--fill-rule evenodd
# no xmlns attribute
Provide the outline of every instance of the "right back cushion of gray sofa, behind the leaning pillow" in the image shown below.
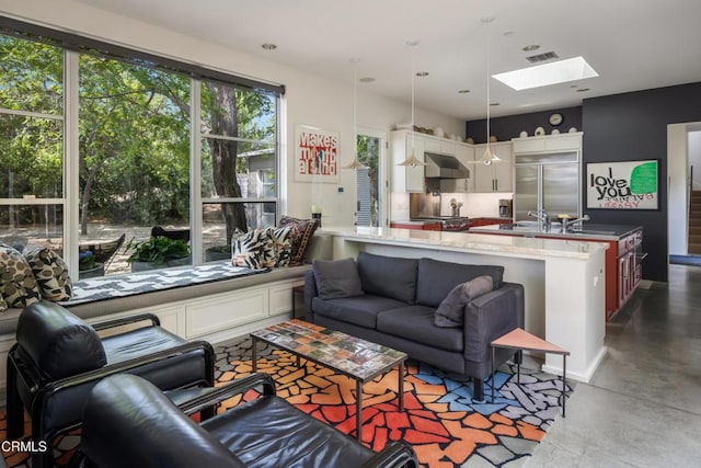
<svg viewBox="0 0 701 468"><path fill-rule="evenodd" d="M468 265L421 259L418 261L416 303L424 306L438 307L453 287L460 283L472 281L478 276L492 276L494 289L498 289L503 284L504 266Z"/></svg>

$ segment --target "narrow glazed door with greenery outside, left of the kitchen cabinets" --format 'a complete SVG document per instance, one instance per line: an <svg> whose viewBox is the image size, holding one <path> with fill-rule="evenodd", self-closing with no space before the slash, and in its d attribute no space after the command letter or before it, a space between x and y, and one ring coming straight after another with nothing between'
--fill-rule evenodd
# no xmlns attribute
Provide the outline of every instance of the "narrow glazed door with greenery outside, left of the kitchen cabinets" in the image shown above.
<svg viewBox="0 0 701 468"><path fill-rule="evenodd" d="M383 180L383 140L382 132L358 129L357 153L364 169L356 172L357 207L356 225L380 227L383 225L384 206L381 181Z"/></svg>

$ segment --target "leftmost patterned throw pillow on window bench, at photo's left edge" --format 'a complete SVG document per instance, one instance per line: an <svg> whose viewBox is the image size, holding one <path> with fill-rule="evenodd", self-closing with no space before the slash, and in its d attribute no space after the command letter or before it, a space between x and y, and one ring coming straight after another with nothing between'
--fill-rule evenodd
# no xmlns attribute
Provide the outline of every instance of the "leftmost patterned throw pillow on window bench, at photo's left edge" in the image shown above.
<svg viewBox="0 0 701 468"><path fill-rule="evenodd" d="M0 243L0 296L7 307L24 308L42 298L32 269L15 249Z"/></svg>

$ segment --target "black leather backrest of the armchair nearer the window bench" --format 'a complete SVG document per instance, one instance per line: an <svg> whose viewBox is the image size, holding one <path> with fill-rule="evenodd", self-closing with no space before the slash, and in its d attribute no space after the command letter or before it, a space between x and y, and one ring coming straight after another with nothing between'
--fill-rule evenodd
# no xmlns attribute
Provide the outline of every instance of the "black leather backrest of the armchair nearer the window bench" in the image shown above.
<svg viewBox="0 0 701 468"><path fill-rule="evenodd" d="M107 363L97 332L58 304L41 300L18 319L16 339L49 380L97 369Z"/></svg>

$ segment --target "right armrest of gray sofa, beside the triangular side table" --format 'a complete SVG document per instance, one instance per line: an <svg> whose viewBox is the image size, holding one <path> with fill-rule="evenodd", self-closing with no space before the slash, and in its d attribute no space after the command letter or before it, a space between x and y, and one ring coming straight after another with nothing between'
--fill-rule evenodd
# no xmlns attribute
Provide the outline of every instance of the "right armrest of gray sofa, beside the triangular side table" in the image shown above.
<svg viewBox="0 0 701 468"><path fill-rule="evenodd" d="M524 286L504 285L464 306L464 356L482 363L491 359L490 343L515 328L524 327Z"/></svg>

